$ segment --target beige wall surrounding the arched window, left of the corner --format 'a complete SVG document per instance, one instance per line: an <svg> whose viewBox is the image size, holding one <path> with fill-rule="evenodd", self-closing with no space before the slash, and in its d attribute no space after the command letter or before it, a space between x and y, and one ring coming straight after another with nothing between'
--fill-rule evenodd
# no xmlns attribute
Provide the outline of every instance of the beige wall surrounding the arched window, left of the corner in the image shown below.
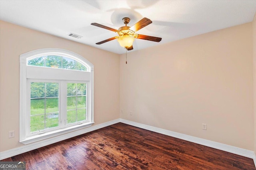
<svg viewBox="0 0 256 170"><path fill-rule="evenodd" d="M118 119L119 55L0 21L0 152L19 143L20 54L42 48L73 51L94 64L95 124ZM8 138L8 131L15 131Z"/></svg>

